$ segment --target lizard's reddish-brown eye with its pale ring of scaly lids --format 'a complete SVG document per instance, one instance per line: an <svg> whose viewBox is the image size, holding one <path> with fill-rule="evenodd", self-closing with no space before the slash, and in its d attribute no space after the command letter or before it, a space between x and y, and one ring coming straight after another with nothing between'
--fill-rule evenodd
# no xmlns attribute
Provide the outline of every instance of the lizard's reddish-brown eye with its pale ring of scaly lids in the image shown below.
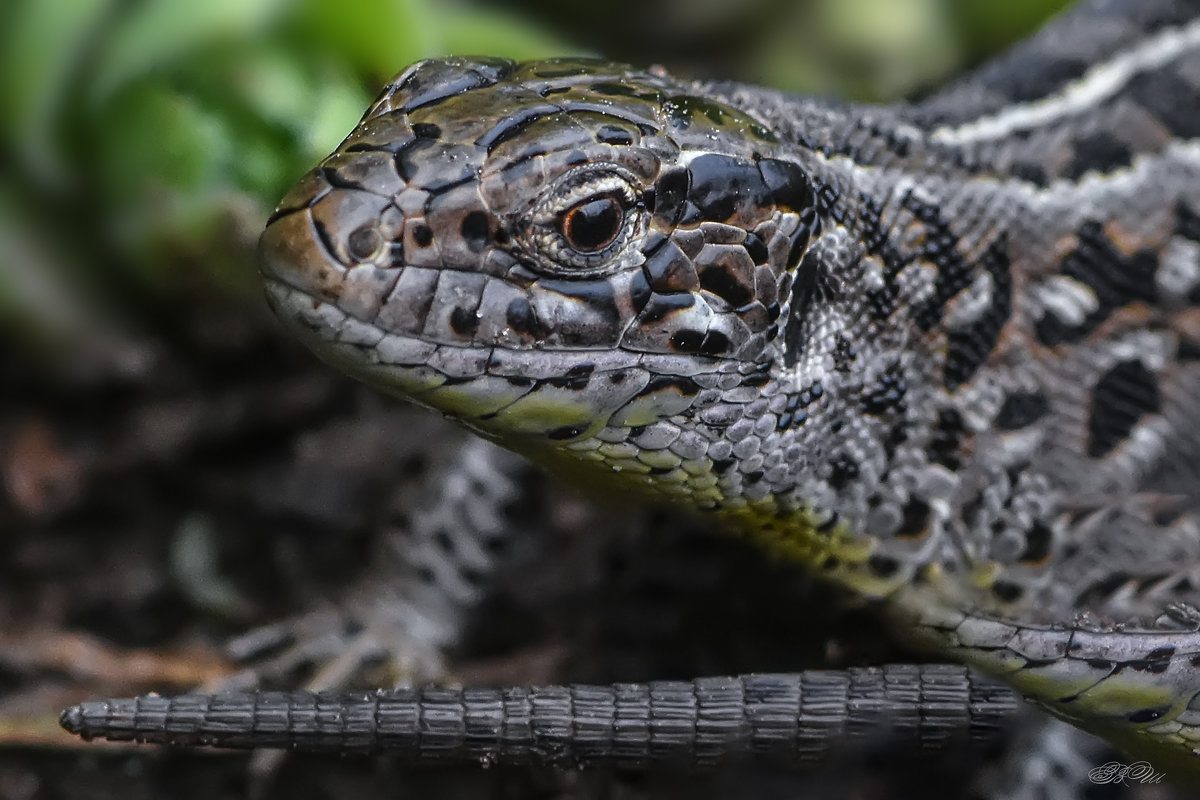
<svg viewBox="0 0 1200 800"><path fill-rule="evenodd" d="M646 230L636 179L617 164L583 164L534 204L524 237L538 265L565 277L596 277L625 265Z"/></svg>

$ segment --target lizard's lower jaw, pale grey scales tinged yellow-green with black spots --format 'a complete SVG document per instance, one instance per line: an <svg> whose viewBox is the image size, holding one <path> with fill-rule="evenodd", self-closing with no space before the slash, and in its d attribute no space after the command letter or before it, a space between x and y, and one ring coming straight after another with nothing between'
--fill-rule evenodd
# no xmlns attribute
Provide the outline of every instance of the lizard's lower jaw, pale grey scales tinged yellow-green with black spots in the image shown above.
<svg viewBox="0 0 1200 800"><path fill-rule="evenodd" d="M514 441L527 435L588 438L607 426L646 425L664 407L682 409L721 367L694 359L624 350L515 350L439 344L388 333L335 303L266 279L276 314L313 351L367 384ZM703 377L706 373L707 377Z"/></svg>

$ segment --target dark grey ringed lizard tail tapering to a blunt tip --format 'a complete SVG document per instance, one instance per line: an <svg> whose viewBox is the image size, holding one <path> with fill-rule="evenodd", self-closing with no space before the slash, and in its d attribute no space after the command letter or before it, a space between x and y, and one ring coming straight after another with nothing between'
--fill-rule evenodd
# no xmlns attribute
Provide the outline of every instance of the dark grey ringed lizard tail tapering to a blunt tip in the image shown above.
<svg viewBox="0 0 1200 800"><path fill-rule="evenodd" d="M893 664L610 686L149 694L82 703L61 723L114 741L644 769L731 757L803 765L872 741L995 742L1020 706L965 667Z"/></svg>

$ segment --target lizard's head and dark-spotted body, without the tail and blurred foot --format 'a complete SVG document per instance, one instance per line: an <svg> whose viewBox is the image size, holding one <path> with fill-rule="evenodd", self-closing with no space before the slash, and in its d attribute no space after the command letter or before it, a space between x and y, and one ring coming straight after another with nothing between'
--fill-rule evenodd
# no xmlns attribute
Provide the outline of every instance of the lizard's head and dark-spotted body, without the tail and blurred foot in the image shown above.
<svg viewBox="0 0 1200 800"><path fill-rule="evenodd" d="M1085 0L887 107L422 61L281 201L262 271L352 375L713 515L1194 774L1198 100L1194 0ZM64 722L169 710L115 708Z"/></svg>

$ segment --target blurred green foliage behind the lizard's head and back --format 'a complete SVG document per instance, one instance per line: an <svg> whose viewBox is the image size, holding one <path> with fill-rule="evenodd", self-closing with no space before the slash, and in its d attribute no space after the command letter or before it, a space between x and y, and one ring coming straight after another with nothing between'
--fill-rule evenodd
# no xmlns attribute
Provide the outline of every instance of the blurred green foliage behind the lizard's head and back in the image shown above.
<svg viewBox="0 0 1200 800"><path fill-rule="evenodd" d="M82 357L80 343L186 338L196 308L257 302L271 206L416 59L592 53L892 100L1064 5L16 0L0 29L0 333Z"/></svg>

